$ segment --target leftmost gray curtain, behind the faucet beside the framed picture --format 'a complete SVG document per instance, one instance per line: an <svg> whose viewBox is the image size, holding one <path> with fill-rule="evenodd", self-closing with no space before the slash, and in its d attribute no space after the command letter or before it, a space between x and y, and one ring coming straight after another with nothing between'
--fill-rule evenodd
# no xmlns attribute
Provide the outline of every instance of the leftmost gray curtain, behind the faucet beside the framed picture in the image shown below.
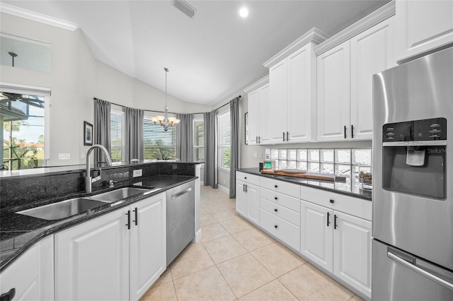
<svg viewBox="0 0 453 301"><path fill-rule="evenodd" d="M101 144L107 148L110 153L110 107L111 104L108 101L100 100L95 98L94 102L94 116L95 116L95 134L94 137L97 144ZM97 149L94 153L94 162L101 163L106 162L105 155L101 153L101 150Z"/></svg>

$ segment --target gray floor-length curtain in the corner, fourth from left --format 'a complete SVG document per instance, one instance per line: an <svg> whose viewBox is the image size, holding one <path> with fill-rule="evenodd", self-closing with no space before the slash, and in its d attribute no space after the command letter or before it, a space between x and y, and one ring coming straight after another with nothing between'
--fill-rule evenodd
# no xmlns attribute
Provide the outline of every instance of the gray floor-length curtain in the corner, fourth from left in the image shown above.
<svg viewBox="0 0 453 301"><path fill-rule="evenodd" d="M205 119L205 186L217 188L217 160L215 158L215 120L216 110L203 113Z"/></svg>

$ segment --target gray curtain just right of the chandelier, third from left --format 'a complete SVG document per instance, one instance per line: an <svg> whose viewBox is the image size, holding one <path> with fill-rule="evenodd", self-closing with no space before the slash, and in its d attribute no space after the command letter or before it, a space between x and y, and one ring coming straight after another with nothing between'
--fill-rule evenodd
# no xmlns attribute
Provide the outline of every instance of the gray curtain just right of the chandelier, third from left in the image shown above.
<svg viewBox="0 0 453 301"><path fill-rule="evenodd" d="M176 131L176 157L193 162L193 114L176 114L180 119Z"/></svg>

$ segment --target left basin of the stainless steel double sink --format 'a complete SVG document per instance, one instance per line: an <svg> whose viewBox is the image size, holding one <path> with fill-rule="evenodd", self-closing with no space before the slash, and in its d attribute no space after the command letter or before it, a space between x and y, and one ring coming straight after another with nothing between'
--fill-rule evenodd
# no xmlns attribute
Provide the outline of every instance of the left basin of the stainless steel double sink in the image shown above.
<svg viewBox="0 0 453 301"><path fill-rule="evenodd" d="M17 213L23 214L24 216L42 218L43 220L59 220L61 218L69 218L69 216L84 213L105 204L106 203L103 201L91 199L69 199L66 201L59 201L58 203L51 203L45 206L18 211Z"/></svg>

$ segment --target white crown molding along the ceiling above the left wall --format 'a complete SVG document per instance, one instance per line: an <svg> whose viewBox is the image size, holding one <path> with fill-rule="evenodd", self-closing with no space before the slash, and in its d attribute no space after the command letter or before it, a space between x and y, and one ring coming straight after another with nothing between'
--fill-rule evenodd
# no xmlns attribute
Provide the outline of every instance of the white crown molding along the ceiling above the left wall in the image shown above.
<svg viewBox="0 0 453 301"><path fill-rule="evenodd" d="M58 18L52 18L50 16L43 15L42 13L36 13L35 11L28 11L28 9L19 8L17 6L12 6L9 4L0 3L0 12L8 13L13 16L18 16L21 18L26 18L29 20L34 20L40 23L45 23L52 26L57 26L59 28L64 28L67 30L78 30L79 25L74 23L69 23L65 20Z"/></svg>

